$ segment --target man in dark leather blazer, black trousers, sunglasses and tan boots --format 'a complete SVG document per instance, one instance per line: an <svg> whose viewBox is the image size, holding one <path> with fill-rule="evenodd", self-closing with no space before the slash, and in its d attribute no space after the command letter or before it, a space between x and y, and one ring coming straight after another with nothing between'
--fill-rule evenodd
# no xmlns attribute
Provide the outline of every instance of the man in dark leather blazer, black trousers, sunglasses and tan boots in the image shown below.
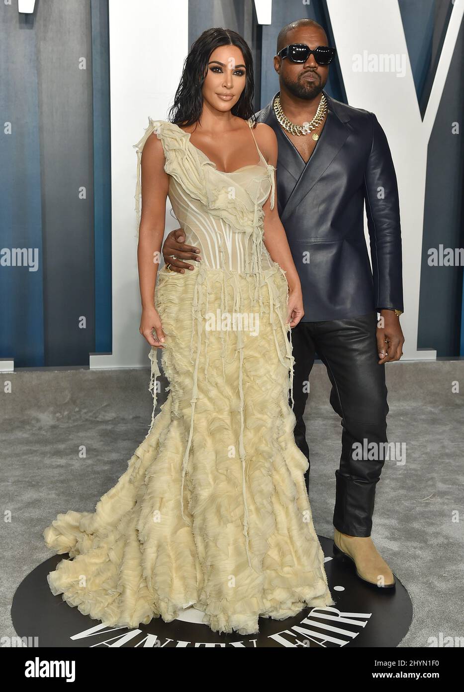
<svg viewBox="0 0 464 692"><path fill-rule="evenodd" d="M295 44L300 46L297 51L287 48ZM309 462L303 415L317 353L331 380L330 401L342 424L342 455L335 471L335 546L354 561L360 579L391 588L393 573L370 538L383 455L372 460L363 454L358 459L355 450L358 445L372 449L374 443L380 451L387 442L384 363L398 361L404 343L396 174L375 115L326 94L328 65L315 59L324 62L324 51L307 57L303 51L306 60L293 62L301 46L328 46L322 26L300 19L281 30L277 53L284 52L274 58L280 91L256 116L277 136L279 216L303 291L304 317L291 334L295 440ZM315 129L301 135L284 129L274 107L277 95L284 124L301 126L313 125L322 93L327 111ZM372 269L364 238L364 203ZM176 233L172 231L163 246L165 262L172 268L187 267L171 257L174 253L195 258L182 252L187 247L176 242ZM305 480L309 488L309 467Z"/></svg>

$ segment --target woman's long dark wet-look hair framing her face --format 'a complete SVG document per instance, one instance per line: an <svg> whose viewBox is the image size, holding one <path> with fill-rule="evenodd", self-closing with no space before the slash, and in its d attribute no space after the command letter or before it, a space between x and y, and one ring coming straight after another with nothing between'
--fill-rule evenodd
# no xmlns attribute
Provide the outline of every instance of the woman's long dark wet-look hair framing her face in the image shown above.
<svg viewBox="0 0 464 692"><path fill-rule="evenodd" d="M203 111L203 82L207 75L208 62L212 52L219 46L237 46L245 61L245 89L231 109L238 118L254 120L253 59L245 39L232 29L212 28L203 31L190 48L185 58L182 77L174 96L174 104L169 109L169 120L176 125L188 127L198 122Z"/></svg>

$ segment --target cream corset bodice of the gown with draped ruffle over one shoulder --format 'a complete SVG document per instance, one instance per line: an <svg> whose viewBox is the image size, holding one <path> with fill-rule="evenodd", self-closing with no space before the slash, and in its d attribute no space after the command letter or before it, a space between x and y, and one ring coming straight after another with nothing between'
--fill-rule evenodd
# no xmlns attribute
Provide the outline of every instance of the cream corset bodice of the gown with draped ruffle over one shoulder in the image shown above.
<svg viewBox="0 0 464 692"><path fill-rule="evenodd" d="M258 163L223 172L192 145L189 133L167 120L149 118L145 134L134 145L138 156L138 224L142 149L153 132L163 144L165 172L171 176L169 201L185 230L185 242L200 248L204 266L252 275L270 268L273 263L263 244L263 204L270 195L270 206L274 207L275 167L266 163L256 140Z"/></svg>

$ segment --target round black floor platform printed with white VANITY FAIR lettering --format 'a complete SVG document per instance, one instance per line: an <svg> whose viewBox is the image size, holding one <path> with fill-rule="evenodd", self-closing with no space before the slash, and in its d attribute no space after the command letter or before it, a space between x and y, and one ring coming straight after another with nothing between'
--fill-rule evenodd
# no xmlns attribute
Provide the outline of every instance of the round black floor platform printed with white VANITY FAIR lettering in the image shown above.
<svg viewBox="0 0 464 692"><path fill-rule="evenodd" d="M37 642L32 646L39 648L398 646L412 619L411 599L398 576L394 589L369 586L356 576L349 558L334 554L333 540L319 536L319 541L335 605L304 608L286 620L260 618L258 634L219 635L201 623L203 614L194 608L188 608L182 619L169 623L157 617L133 629L104 626L68 605L62 594L53 596L50 591L46 576L66 558L63 555L42 563L21 582L12 602L13 627L19 637L31 637L31 642Z"/></svg>

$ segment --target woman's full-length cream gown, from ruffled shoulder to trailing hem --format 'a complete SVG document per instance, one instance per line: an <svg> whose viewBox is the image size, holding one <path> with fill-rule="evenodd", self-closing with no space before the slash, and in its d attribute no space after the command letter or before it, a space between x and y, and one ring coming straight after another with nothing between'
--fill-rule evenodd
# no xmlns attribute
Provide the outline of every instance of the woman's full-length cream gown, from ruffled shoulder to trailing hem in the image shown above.
<svg viewBox="0 0 464 692"><path fill-rule="evenodd" d="M231 48L232 37L250 66L241 37L210 32L216 51ZM203 50L212 41L205 34ZM160 371L151 347L147 437L93 513L59 514L44 530L48 547L73 558L48 574L50 589L107 625L171 621L193 605L212 630L247 635L259 630L260 616L285 619L334 603L288 403L286 272L263 238L275 167L248 124L253 163L232 172L218 170L168 120L149 118L134 145L139 217L142 149L156 136L169 201L202 261L183 274L158 271L169 394L155 417Z"/></svg>

